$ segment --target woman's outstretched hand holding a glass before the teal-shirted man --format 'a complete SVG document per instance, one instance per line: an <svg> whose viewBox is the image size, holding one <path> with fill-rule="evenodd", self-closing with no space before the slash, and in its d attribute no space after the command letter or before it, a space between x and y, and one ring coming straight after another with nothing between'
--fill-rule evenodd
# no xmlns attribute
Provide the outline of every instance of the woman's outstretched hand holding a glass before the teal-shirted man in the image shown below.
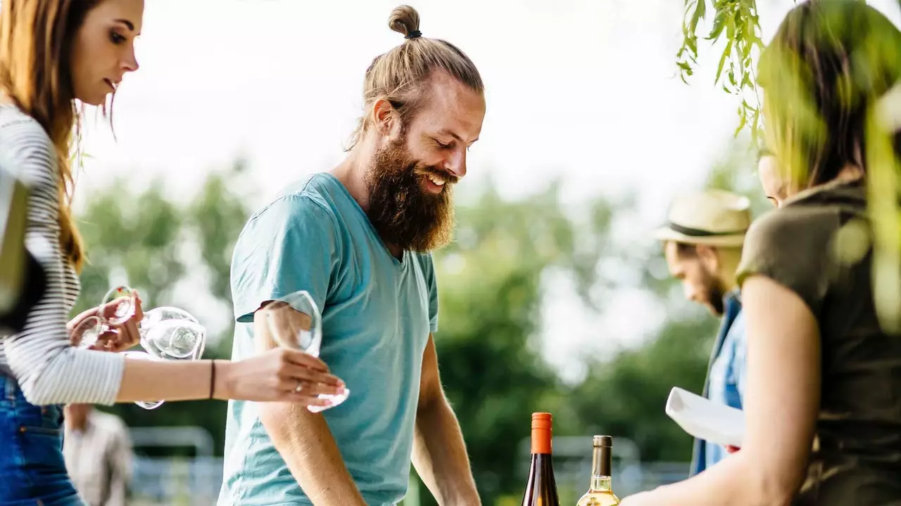
<svg viewBox="0 0 901 506"><path fill-rule="evenodd" d="M329 406L321 393L339 395L346 388L329 374L322 360L303 351L275 348L256 357L215 364L214 398L241 401L299 402Z"/></svg>

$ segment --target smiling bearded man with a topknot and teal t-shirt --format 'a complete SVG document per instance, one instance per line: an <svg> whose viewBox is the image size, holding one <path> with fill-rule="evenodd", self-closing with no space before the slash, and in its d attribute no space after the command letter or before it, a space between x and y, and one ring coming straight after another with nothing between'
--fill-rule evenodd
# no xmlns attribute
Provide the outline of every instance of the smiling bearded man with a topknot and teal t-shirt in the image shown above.
<svg viewBox="0 0 901 506"><path fill-rule="evenodd" d="M462 51L421 36L412 7L389 26L405 41L366 72L347 158L251 216L232 258L232 356L277 346L267 306L305 290L350 397L321 413L230 402L220 505L395 505L411 461L440 504L480 503L438 374L431 252L451 239L484 86Z"/></svg>

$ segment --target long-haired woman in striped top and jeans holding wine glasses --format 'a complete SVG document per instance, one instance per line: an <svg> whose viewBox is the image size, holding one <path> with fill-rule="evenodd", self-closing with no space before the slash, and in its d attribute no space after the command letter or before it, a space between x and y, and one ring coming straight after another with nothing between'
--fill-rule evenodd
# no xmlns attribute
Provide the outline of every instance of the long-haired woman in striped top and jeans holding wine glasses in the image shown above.
<svg viewBox="0 0 901 506"><path fill-rule="evenodd" d="M239 399L323 406L343 384L315 357L274 349L239 362L146 361L76 348L66 317L84 262L70 205L78 103L105 105L137 70L142 0L3 0L0 165L31 185L26 245L47 290L22 332L0 335L0 503L79 505L61 451L60 404ZM85 314L79 317L85 317ZM107 349L137 342L137 315Z"/></svg>

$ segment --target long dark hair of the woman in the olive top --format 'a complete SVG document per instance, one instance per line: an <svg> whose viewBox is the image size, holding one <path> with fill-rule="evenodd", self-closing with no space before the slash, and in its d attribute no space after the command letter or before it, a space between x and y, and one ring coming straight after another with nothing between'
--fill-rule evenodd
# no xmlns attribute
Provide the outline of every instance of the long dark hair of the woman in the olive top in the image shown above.
<svg viewBox="0 0 901 506"><path fill-rule="evenodd" d="M901 85L901 32L860 0L808 0L760 56L768 145L797 191L868 171L879 100ZM901 157L901 131L890 137Z"/></svg>

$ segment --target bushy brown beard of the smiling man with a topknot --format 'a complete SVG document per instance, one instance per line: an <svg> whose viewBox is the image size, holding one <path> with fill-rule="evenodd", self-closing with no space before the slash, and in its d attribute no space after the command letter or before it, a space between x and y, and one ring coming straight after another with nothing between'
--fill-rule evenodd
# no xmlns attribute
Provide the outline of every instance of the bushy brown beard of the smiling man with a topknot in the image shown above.
<svg viewBox="0 0 901 506"><path fill-rule="evenodd" d="M432 194L423 179L435 175L445 181ZM366 174L369 221L388 245L419 253L451 242L454 216L451 185L457 178L437 167L415 160L405 149L405 139L378 149Z"/></svg>

